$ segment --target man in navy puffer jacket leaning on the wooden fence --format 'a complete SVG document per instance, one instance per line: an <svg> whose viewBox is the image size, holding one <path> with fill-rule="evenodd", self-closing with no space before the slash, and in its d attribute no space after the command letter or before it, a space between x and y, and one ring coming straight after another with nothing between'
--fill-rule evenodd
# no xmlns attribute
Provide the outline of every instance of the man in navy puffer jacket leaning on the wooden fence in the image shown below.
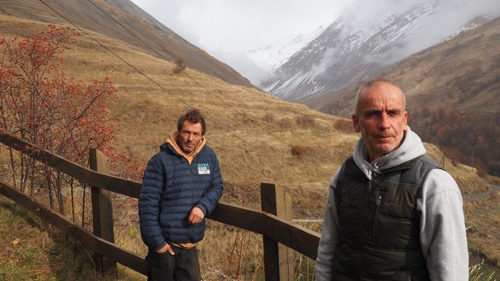
<svg viewBox="0 0 500 281"><path fill-rule="evenodd" d="M223 189L219 161L206 145L205 132L201 112L189 110L144 171L139 218L149 248L148 280L201 279L196 245Z"/></svg>

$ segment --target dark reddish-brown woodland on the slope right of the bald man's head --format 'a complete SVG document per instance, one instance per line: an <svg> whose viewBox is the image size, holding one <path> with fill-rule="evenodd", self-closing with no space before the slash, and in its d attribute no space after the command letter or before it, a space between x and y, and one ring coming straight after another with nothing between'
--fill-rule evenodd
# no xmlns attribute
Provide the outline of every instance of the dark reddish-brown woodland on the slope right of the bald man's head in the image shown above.
<svg viewBox="0 0 500 281"><path fill-rule="evenodd" d="M409 114L412 130L447 158L476 167L480 176L500 176L500 112L485 116L424 107Z"/></svg>

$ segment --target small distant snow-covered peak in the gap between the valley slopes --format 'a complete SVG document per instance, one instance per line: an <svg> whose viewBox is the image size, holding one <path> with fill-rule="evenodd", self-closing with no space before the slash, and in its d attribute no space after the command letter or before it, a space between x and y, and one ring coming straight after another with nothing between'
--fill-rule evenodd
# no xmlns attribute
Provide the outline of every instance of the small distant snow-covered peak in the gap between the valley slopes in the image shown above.
<svg viewBox="0 0 500 281"><path fill-rule="evenodd" d="M306 44L318 37L324 29L323 26L319 26L310 33L288 35L267 46L246 51L244 55L253 60L253 62L256 62L265 71L271 72L283 65L285 61L302 49L303 46L306 46Z"/></svg>

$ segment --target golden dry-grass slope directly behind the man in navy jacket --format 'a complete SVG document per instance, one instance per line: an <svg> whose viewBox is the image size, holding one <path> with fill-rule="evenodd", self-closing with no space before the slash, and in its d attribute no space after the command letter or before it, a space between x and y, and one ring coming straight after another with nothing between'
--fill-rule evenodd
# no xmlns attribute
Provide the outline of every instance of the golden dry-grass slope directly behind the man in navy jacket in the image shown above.
<svg viewBox="0 0 500 281"><path fill-rule="evenodd" d="M6 37L47 28L15 17L0 17L0 27ZM338 117L186 69L208 92L187 76L174 74L172 65L164 60L124 42L96 33L92 36L167 90L85 35L78 38L74 50L65 53L67 76L84 81L110 77L113 81L117 98L108 101L108 110L112 121L120 124L115 148L128 151L137 160L145 161L158 151L178 116L188 109L186 103L201 108L209 118L208 144L217 151L223 176L233 185L256 188L259 182L276 182L291 189L323 192L356 142L355 134L335 128ZM299 156L290 153L295 144L304 147Z"/></svg>

